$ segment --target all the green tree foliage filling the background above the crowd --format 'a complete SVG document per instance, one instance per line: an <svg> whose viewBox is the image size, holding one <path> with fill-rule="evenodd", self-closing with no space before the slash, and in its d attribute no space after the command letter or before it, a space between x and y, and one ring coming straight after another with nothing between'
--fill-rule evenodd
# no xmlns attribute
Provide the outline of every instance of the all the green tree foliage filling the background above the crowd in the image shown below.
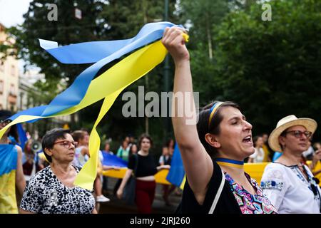
<svg viewBox="0 0 321 228"><path fill-rule="evenodd" d="M83 12L83 19L73 16L74 6ZM255 0L180 0L170 1L169 21L190 26L191 66L194 91L200 92L200 105L212 100L233 100L244 108L255 134L269 133L277 120L285 115L310 117L320 121L321 108L321 2L316 0L272 0L272 21L262 21L264 1ZM34 0L25 14L24 24L10 28L16 37L19 57L35 64L45 73L51 86L44 98L55 95L56 82L66 78L71 84L86 65L66 66L58 63L39 47L36 38L67 45L83 41L131 38L146 23L163 19L163 1L62 1L58 21L48 21L46 1ZM101 73L112 66L105 66ZM173 71L173 63L171 62ZM98 73L99 75L99 73ZM173 75L173 73L172 73ZM163 67L158 66L126 91L145 93L163 88ZM69 79L69 80L68 80ZM170 84L172 86L172 80ZM145 130L145 118L123 118L126 101L116 99L111 110L98 125L105 138L120 142L127 134L138 137ZM44 101L43 101L44 102ZM148 103L148 102L146 102ZM80 121L72 128L91 129L101 101L80 110ZM163 118L149 119L149 133L161 151L165 142ZM320 135L320 134L318 134ZM317 135L317 136L318 136ZM116 147L118 145L114 145Z"/></svg>

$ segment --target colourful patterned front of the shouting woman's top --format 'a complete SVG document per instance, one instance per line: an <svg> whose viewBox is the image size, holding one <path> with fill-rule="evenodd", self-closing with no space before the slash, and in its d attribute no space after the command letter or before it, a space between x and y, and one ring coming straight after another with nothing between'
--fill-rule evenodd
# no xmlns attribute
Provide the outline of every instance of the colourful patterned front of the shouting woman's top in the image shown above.
<svg viewBox="0 0 321 228"><path fill-rule="evenodd" d="M238 185L228 173L225 173L225 179L230 184L230 190L238 202L242 214L276 214L276 209L271 204L270 200L263 195L263 191L258 186L258 183L250 178L251 185L257 190L256 195L251 195L242 186Z"/></svg>

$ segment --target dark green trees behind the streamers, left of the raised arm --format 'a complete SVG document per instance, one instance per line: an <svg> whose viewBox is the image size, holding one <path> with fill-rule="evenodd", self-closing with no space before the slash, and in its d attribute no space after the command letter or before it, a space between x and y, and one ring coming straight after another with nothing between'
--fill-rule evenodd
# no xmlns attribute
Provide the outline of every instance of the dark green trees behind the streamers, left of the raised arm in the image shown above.
<svg viewBox="0 0 321 228"><path fill-rule="evenodd" d="M24 15L25 21L17 28L11 28L10 32L17 40L19 58L23 58L28 64L41 68L49 82L64 78L67 86L70 86L74 78L88 65L64 65L56 61L49 53L39 47L37 38L57 41L60 45L79 43L83 41L103 41L131 38L138 33L146 23L161 21L163 19L163 1L125 1L125 0L74 0L51 1L58 8L58 20L49 21L49 3L44 0L34 0L29 6L29 11ZM170 1L170 18L173 19L175 1ZM74 9L82 11L82 19L76 19ZM173 20L170 20L173 21ZM175 21L173 21L175 23ZM109 63L97 74L106 71L117 62ZM148 73L148 81L141 79L126 90L137 93L138 86L147 85L148 90L161 91L161 68L156 68ZM54 84L52 85L54 86ZM98 126L100 133L105 133L108 138L121 140L128 133L139 135L144 132L143 118L123 118L121 115L121 96L116 100L106 119ZM72 129L86 127L88 129L96 120L101 101L91 105L90 108L80 110L80 121L71 125ZM162 139L163 128L161 121L150 121L151 135L159 135ZM161 142L160 142L161 143ZM157 143L156 143L157 145Z"/></svg>

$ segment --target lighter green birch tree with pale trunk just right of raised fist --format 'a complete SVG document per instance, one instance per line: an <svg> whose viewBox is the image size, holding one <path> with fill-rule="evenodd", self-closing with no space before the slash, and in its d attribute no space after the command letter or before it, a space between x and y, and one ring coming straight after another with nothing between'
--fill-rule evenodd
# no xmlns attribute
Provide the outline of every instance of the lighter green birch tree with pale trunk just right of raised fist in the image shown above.
<svg viewBox="0 0 321 228"><path fill-rule="evenodd" d="M193 90L199 92L200 107L219 98L222 93L214 81L215 66L215 27L234 3L226 0L181 0L178 14L180 23L189 28L190 41L187 43L190 51L193 75Z"/></svg>

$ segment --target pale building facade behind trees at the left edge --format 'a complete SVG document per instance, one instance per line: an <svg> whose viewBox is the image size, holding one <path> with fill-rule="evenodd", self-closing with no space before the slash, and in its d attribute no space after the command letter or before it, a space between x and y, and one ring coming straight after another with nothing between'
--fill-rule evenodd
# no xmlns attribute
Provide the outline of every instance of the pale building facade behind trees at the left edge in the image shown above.
<svg viewBox="0 0 321 228"><path fill-rule="evenodd" d="M10 46L15 41L5 33L5 27L0 23L0 44ZM12 50L9 50L12 51ZM29 70L26 73L19 73L19 61L14 56L6 56L1 61L4 53L0 53L0 110L11 110L17 113L21 110L33 108L38 105L46 105L36 102L30 95L30 91L37 93L34 83L38 80L45 80L39 71ZM39 92L39 96L41 93ZM70 125L71 116L60 116L57 118L46 118L36 123L24 123L24 129L29 132L32 138L37 139L38 135L44 135L46 130L51 128L63 128Z"/></svg>

